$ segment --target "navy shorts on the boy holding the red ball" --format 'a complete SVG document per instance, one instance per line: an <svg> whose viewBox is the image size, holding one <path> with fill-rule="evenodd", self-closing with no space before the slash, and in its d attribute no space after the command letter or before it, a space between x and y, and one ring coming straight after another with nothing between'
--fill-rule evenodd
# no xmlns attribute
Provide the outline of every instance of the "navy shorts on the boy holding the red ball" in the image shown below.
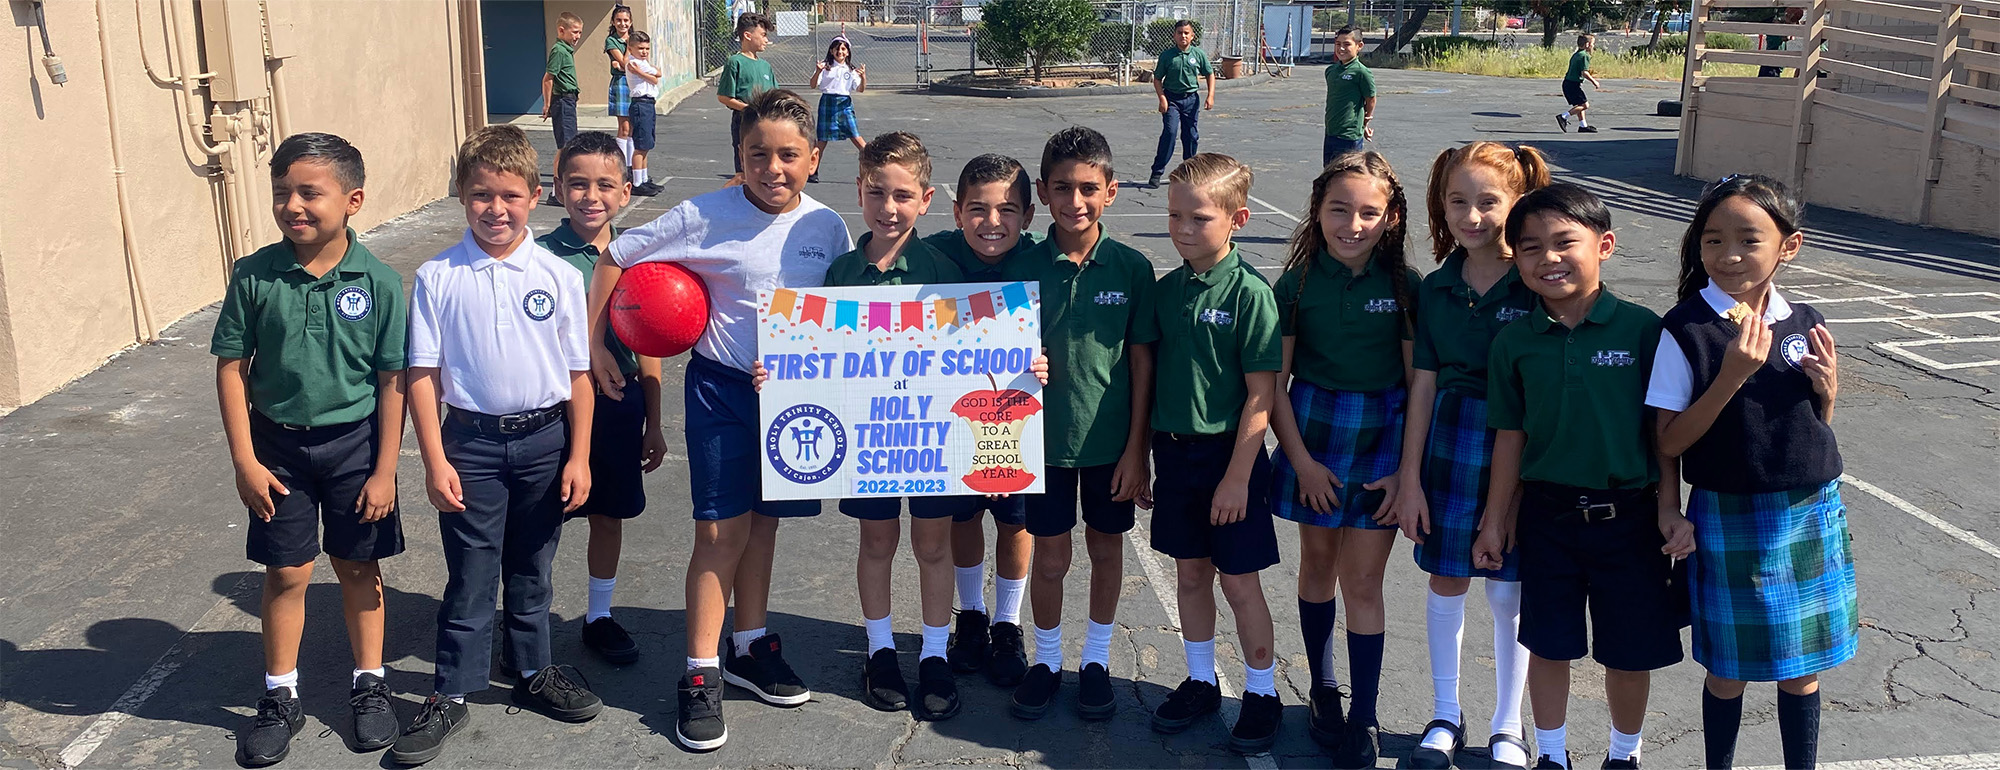
<svg viewBox="0 0 2000 770"><path fill-rule="evenodd" d="M818 500L764 500L764 440L750 374L688 356L688 486L694 520L818 516Z"/></svg>

